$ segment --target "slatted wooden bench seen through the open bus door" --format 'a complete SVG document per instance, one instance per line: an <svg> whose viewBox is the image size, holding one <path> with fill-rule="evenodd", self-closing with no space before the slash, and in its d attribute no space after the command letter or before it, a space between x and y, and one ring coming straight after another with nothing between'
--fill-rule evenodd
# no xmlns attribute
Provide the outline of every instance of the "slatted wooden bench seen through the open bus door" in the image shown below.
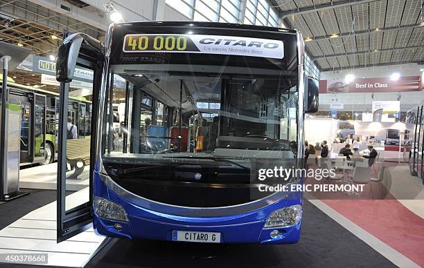
<svg viewBox="0 0 424 268"><path fill-rule="evenodd" d="M76 179L90 164L90 138L67 140L67 163L74 172L67 178Z"/></svg>

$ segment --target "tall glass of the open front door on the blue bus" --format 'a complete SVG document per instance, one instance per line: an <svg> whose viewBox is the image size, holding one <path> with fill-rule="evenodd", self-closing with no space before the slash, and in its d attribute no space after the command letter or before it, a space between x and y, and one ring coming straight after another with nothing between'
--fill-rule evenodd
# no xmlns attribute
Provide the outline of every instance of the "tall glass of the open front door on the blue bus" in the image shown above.
<svg viewBox="0 0 424 268"><path fill-rule="evenodd" d="M100 83L100 70L97 61L84 57L77 59L76 76L73 81L78 81L85 87L73 87L69 82L61 83L59 118L59 151L58 151L58 242L89 228L91 222L91 185L93 176L94 155L91 149L94 140L91 140L91 116L97 116L96 106L91 107L89 101L94 97L94 75L98 75ZM100 84L97 85L97 90ZM78 99L78 101L76 101ZM95 102L93 102L93 105ZM71 119L71 122L68 120ZM71 126L69 126L69 123ZM96 123L96 120L94 120ZM78 181L78 186L76 186ZM69 194L71 192L71 194Z"/></svg>

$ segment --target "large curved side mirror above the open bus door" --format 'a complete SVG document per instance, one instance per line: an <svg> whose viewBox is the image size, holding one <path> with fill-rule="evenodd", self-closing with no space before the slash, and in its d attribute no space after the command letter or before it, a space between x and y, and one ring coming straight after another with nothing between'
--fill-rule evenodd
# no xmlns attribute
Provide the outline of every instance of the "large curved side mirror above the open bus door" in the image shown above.
<svg viewBox="0 0 424 268"><path fill-rule="evenodd" d="M89 57L101 55L100 41L81 32L77 32L62 41L56 61L56 80L69 83L73 79L78 55Z"/></svg>

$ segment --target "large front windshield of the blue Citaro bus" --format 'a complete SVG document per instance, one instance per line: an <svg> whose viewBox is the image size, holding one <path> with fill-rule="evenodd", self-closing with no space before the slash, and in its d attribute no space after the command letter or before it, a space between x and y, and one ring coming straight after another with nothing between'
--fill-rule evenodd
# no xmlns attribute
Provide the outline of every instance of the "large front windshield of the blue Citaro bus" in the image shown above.
<svg viewBox="0 0 424 268"><path fill-rule="evenodd" d="M209 195L207 187L246 188L258 169L295 165L297 54L285 46L284 59L276 59L244 52L130 54L117 45L103 118L107 173L123 188L160 202L216 207L255 199L234 195L193 204L181 198L181 188L170 194L169 186L197 183L202 190L196 195Z"/></svg>

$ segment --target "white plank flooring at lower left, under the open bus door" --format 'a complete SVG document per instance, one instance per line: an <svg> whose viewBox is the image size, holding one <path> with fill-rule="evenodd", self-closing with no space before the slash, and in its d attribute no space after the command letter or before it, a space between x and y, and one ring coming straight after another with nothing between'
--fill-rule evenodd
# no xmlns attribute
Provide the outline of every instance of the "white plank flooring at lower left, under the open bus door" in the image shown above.
<svg viewBox="0 0 424 268"><path fill-rule="evenodd" d="M88 196L88 188L72 193L67 207ZM49 266L84 267L105 240L93 229L56 243L56 202L28 213L0 230L0 253L48 253Z"/></svg>

